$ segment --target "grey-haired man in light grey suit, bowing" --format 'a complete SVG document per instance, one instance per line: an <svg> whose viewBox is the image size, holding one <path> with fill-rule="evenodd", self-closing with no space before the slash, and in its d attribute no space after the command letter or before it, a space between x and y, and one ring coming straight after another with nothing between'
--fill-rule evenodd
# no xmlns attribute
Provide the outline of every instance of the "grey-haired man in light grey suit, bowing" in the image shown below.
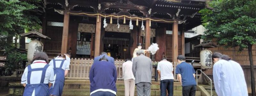
<svg viewBox="0 0 256 96"><path fill-rule="evenodd" d="M143 50L137 51L137 57L132 61L132 73L135 77L138 96L150 96L152 78L152 61L144 55Z"/></svg>

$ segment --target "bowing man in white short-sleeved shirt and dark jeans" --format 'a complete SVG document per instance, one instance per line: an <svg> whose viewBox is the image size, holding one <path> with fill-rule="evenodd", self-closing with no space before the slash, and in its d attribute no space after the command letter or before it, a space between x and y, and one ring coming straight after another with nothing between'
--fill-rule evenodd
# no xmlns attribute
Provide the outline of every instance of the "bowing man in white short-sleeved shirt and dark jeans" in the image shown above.
<svg viewBox="0 0 256 96"><path fill-rule="evenodd" d="M163 56L162 61L158 62L157 71L160 76L161 96L166 96L166 89L168 96L173 96L173 67L165 56Z"/></svg>

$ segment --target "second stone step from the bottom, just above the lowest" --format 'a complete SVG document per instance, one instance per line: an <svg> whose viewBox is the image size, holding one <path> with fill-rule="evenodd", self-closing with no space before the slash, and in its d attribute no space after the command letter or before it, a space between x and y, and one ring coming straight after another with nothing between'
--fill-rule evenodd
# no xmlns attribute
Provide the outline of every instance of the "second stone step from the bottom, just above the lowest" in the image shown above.
<svg viewBox="0 0 256 96"><path fill-rule="evenodd" d="M118 90L124 90L124 84L116 84L116 88ZM84 89L84 90L90 90L90 84L67 84L65 83L64 89ZM135 87L136 89L136 87ZM153 84L151 85L152 90L160 90L160 85ZM173 85L173 90L182 90L182 87L180 85Z"/></svg>

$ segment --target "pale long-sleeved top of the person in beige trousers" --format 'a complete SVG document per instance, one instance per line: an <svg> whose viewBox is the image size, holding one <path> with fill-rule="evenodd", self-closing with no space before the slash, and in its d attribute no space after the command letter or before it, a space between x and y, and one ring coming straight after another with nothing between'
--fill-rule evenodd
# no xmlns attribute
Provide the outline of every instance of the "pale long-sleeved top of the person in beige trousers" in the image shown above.
<svg viewBox="0 0 256 96"><path fill-rule="evenodd" d="M122 66L122 70L123 70L123 78L124 80L128 80L128 79L133 79L135 80L135 77L132 73L132 61L126 61L123 63Z"/></svg>

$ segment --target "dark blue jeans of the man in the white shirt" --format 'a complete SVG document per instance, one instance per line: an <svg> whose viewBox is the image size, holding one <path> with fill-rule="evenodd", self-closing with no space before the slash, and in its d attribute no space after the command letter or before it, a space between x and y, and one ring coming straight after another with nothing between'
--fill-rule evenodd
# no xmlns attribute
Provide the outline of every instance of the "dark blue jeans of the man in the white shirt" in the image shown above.
<svg viewBox="0 0 256 96"><path fill-rule="evenodd" d="M161 96L166 96L166 89L168 96L173 96L173 79L165 79L160 81Z"/></svg>

